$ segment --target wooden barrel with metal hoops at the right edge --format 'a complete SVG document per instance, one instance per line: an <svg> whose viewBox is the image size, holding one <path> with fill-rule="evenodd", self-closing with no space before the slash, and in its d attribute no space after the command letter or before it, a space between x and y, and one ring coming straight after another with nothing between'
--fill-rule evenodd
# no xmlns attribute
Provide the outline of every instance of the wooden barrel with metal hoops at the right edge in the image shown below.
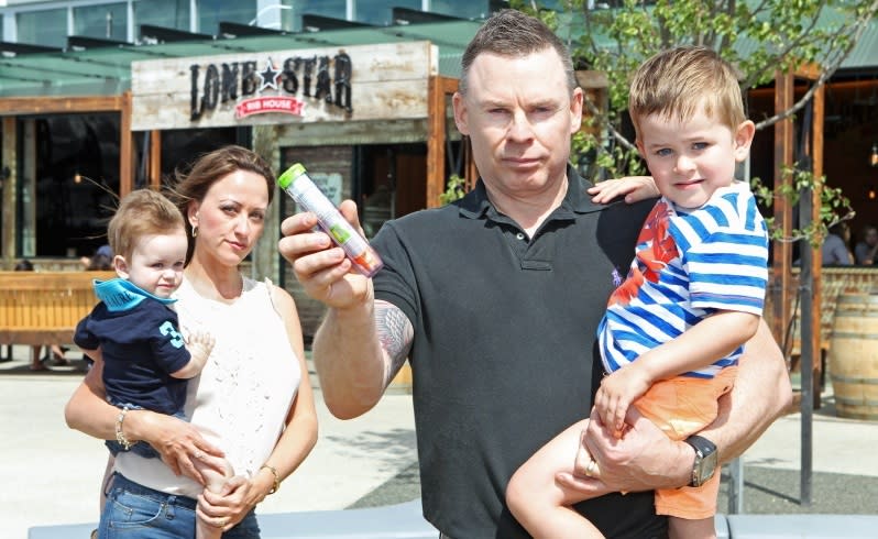
<svg viewBox="0 0 878 539"><path fill-rule="evenodd" d="M838 296L830 377L839 417L878 420L878 290Z"/></svg>

